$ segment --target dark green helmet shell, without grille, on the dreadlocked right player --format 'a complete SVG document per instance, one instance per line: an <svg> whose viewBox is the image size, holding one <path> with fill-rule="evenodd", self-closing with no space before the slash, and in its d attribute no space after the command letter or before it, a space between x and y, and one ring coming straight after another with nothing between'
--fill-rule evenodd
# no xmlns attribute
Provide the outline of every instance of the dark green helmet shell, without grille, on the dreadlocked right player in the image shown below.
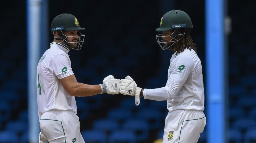
<svg viewBox="0 0 256 143"><path fill-rule="evenodd" d="M186 12L181 10L171 10L169 12L166 12L166 14L164 14L164 16L161 18L160 27L157 28L156 31L171 31L174 30L176 28L175 26L177 25L183 25L186 28L190 29L193 28L191 19Z"/></svg>

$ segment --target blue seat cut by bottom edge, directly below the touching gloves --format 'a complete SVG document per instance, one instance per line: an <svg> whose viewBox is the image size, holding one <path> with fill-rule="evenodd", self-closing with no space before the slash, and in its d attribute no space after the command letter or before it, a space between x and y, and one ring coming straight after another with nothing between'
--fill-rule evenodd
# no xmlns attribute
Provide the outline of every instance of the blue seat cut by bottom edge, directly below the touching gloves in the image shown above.
<svg viewBox="0 0 256 143"><path fill-rule="evenodd" d="M133 131L116 130L109 135L108 143L136 143Z"/></svg>

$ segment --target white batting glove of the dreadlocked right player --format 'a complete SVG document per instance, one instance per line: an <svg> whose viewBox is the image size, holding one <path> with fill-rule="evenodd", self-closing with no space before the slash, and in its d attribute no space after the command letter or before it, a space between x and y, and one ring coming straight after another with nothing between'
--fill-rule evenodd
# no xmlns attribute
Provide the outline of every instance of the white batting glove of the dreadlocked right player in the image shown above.
<svg viewBox="0 0 256 143"><path fill-rule="evenodd" d="M125 79L119 80L120 82L120 91L119 93L124 95L135 96L135 105L140 104L140 92L142 88L137 87L137 84L129 75Z"/></svg>

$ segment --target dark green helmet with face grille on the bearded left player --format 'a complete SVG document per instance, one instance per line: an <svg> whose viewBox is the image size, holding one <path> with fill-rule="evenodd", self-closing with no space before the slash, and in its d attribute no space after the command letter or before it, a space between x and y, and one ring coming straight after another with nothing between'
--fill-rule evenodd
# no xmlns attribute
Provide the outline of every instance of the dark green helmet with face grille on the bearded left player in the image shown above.
<svg viewBox="0 0 256 143"><path fill-rule="evenodd" d="M68 47L69 49L76 49L76 50L81 49L84 43L85 35L77 32L77 36L76 35L67 36L64 34L65 31L79 31L79 30L85 30L85 29L80 27L77 18L72 14L67 14L67 13L60 14L56 16L51 22L51 33L53 33L53 31L57 31L59 35L59 37L56 37L55 34L53 34L54 38L59 43ZM67 39L69 37L73 37L74 38L73 41L68 41Z"/></svg>

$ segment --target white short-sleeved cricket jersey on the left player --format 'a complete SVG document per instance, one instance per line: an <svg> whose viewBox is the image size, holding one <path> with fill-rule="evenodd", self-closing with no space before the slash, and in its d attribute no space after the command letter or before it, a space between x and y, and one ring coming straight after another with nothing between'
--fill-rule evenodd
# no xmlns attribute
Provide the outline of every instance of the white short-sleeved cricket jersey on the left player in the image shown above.
<svg viewBox="0 0 256 143"><path fill-rule="evenodd" d="M37 66L37 104L39 120L46 111L71 110L77 114L74 96L70 96L59 79L73 75L69 49L59 43L50 43L50 48L38 62Z"/></svg>

